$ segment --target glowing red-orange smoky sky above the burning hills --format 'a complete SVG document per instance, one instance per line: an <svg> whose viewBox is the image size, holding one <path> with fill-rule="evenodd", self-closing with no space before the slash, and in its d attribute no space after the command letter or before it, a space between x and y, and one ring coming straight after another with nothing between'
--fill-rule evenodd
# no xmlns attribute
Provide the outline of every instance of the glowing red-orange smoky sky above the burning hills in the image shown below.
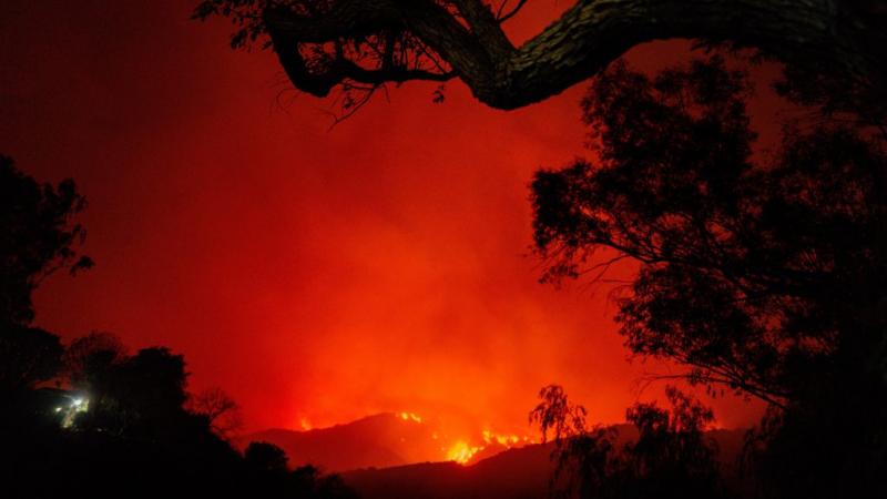
<svg viewBox="0 0 887 499"><path fill-rule="evenodd" d="M0 152L77 181L98 264L40 289L39 325L170 346L247 428L409 410L529 432L549 383L619 421L666 369L628 361L606 289L541 285L528 254L533 171L584 154L582 88L499 112L458 82L443 104L409 84L329 131L326 103L193 3L0 6ZM531 2L513 29L567 3ZM714 407L727 427L758 414Z"/></svg>

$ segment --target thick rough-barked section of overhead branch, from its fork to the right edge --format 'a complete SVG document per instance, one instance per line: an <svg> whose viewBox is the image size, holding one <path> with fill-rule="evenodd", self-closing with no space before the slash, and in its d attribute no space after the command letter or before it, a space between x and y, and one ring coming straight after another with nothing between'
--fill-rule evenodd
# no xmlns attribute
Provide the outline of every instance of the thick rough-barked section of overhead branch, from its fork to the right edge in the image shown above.
<svg viewBox="0 0 887 499"><path fill-rule="evenodd" d="M856 75L880 72L883 49L863 41L858 31L866 30L855 17L849 22L837 3L580 0L512 54L499 74L500 88L478 96L495 106L526 105L595 74L632 47L673 38L754 47L787 62L825 64Z"/></svg>

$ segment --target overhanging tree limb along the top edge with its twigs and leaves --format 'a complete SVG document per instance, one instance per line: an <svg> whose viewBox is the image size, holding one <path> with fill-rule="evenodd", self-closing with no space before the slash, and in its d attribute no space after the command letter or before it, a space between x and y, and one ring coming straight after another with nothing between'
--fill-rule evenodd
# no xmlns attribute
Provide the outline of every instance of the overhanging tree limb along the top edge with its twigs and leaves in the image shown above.
<svg viewBox="0 0 887 499"><path fill-rule="evenodd" d="M887 11L878 2L578 0L514 47L502 23L524 3L204 0L195 17L230 17L237 26L232 45L262 40L297 89L326 95L340 85L348 105L387 82L459 78L486 104L514 109L560 93L632 47L667 38L755 47L871 89L884 81Z"/></svg>

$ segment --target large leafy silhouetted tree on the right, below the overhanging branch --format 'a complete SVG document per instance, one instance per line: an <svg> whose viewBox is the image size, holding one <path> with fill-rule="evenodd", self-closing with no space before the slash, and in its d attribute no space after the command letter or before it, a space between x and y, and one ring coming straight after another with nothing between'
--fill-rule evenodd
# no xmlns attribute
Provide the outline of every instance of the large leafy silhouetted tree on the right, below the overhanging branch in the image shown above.
<svg viewBox="0 0 887 499"><path fill-rule="evenodd" d="M778 150L761 154L751 85L722 59L654 78L614 64L583 101L598 160L537 174L534 236L547 279L640 264L618 298L632 352L782 409L767 447L796 437L773 461L792 469L774 473L786 479L777 495L861 483L876 496L887 469L877 422L887 418L887 135L804 86L781 89L806 95L814 119L787 123ZM840 465L802 465L828 459Z"/></svg>

